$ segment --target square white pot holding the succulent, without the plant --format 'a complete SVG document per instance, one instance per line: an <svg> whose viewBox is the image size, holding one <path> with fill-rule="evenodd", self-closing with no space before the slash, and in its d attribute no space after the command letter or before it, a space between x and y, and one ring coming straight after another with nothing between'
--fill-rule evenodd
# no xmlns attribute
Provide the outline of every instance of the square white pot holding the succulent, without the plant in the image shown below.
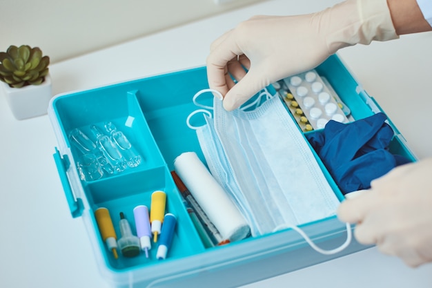
<svg viewBox="0 0 432 288"><path fill-rule="evenodd" d="M28 85L22 88L12 88L0 82L6 95L10 110L18 120L44 115L48 112L48 104L52 97L51 77L45 76L45 81L39 85Z"/></svg>

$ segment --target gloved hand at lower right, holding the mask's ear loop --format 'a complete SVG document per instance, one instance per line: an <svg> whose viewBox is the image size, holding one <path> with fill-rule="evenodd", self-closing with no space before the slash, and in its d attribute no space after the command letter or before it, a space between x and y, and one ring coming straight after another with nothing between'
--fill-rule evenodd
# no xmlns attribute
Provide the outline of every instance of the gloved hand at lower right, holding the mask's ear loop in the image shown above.
<svg viewBox="0 0 432 288"><path fill-rule="evenodd" d="M398 166L374 180L371 189L340 204L343 222L357 223L362 244L417 267L432 261L432 158Z"/></svg>

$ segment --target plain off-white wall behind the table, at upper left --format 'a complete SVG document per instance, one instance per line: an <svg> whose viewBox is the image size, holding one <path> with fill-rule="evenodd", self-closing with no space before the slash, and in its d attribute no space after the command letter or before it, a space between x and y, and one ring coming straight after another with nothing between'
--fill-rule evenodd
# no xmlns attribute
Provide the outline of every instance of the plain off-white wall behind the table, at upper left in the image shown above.
<svg viewBox="0 0 432 288"><path fill-rule="evenodd" d="M55 63L261 1L0 0L0 51L38 46Z"/></svg>

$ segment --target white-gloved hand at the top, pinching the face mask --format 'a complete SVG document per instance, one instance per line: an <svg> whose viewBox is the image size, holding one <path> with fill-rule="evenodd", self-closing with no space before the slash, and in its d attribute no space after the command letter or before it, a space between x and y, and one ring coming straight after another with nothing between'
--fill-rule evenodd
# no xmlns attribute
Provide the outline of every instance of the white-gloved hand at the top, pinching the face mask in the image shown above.
<svg viewBox="0 0 432 288"><path fill-rule="evenodd" d="M224 95L230 111L268 84L315 68L342 47L395 38L386 0L348 0L309 15L257 16L210 46L208 84Z"/></svg>

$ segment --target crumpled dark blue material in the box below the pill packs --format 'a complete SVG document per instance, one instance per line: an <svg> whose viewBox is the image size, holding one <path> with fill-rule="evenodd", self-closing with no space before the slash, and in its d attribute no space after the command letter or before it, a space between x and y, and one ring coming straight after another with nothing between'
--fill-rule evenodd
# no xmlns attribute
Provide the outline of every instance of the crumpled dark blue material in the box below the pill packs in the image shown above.
<svg viewBox="0 0 432 288"><path fill-rule="evenodd" d="M332 120L306 135L343 194L369 189L372 180L411 162L389 152L393 129L386 119L377 113L349 124Z"/></svg>

